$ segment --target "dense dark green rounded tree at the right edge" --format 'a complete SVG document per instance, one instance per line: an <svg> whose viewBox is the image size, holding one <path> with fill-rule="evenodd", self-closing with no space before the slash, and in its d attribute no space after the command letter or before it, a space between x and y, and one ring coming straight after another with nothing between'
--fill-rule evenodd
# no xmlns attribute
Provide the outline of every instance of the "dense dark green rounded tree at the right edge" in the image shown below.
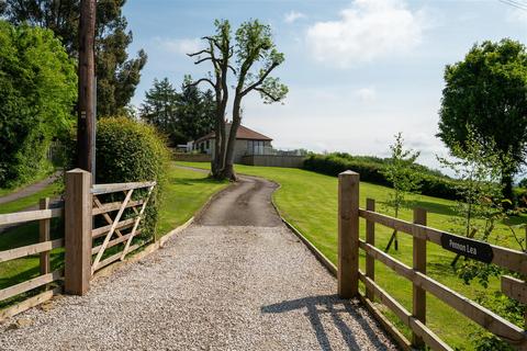
<svg viewBox="0 0 527 351"><path fill-rule="evenodd" d="M503 193L513 200L513 176L527 155L525 46L508 38L474 45L446 67L445 81L438 136L450 149L467 149L472 131L482 149L498 154Z"/></svg>

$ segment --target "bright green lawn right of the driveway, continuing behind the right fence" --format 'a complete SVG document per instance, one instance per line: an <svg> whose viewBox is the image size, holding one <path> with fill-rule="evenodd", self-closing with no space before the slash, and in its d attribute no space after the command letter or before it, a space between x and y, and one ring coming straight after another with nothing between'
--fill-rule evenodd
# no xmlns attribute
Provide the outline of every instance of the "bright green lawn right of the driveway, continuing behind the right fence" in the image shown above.
<svg viewBox="0 0 527 351"><path fill-rule="evenodd" d="M177 162L182 166L191 166L208 169L209 163L199 162ZM281 188L273 197L284 218L301 230L311 242L313 242L329 260L336 263L337 259L337 179L310 171L290 168L272 167L249 167L236 166L240 173L265 177L280 183ZM377 201L377 211L392 214L386 207L390 189L361 182L360 184L360 205L366 206L366 199L371 197ZM437 197L412 195L410 201L414 206L421 206L428 212L428 225L435 228L456 231L456 225L451 223L453 202ZM412 219L412 211L406 208L402 211L403 219ZM518 218L517 222L527 222L527 217ZM389 228L380 225L375 226L377 246L384 249L391 235ZM495 238L500 245L515 248L514 242L508 236L504 226L496 230L500 235ZM363 238L365 223L361 220L361 237ZM412 238L408 235L400 234L400 250L391 254L412 264ZM479 284L464 285L463 282L453 274L450 262L453 253L441 249L435 244L428 242L428 274L450 286L451 288L464 294L470 298L475 298L478 294L487 293L500 288L497 280L492 280L487 291ZM361 252L362 253L362 252ZM363 254L360 262L365 269ZM395 275L390 269L375 262L375 280L379 284L401 302L408 310L412 310L412 285L403 278ZM389 317L395 321L395 317L389 314ZM428 294L427 299L427 325L438 333L450 346L463 350L471 350L469 333L478 327L470 322L462 315L446 306L440 301ZM401 324L397 324L401 326ZM408 330L402 328L402 331L410 337Z"/></svg>

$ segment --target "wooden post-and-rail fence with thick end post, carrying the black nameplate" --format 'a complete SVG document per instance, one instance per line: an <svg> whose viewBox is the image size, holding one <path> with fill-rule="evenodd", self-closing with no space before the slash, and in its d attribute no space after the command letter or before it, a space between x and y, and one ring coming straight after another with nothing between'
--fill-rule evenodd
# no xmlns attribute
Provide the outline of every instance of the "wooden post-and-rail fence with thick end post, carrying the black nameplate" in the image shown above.
<svg viewBox="0 0 527 351"><path fill-rule="evenodd" d="M513 272L527 274L527 254L522 251L490 245L426 226L426 212L414 211L413 223L375 212L373 200L367 200L366 210L359 208L359 174L346 171L339 174L338 186L338 294L344 298L361 297L373 312L374 299L391 309L412 330L412 346L428 346L433 350L452 350L426 325L426 295L436 296L469 319L496 335L513 347L526 350L527 336L520 328L468 297L452 291L426 274L426 245L430 241L448 251L473 260L493 263ZM359 218L366 219L366 240L359 238ZM413 265L410 267L375 247L375 224L413 237ZM359 270L359 249L366 252L366 272ZM394 274L413 284L412 312L375 283L374 261L389 267ZM366 296L358 282L366 285ZM502 292L522 303L527 302L527 284L511 276L502 276ZM397 335L395 332L395 335ZM400 335L400 333L399 333ZM401 337L401 335L400 335ZM405 340L403 340L405 341ZM407 343L407 341L405 341Z"/></svg>

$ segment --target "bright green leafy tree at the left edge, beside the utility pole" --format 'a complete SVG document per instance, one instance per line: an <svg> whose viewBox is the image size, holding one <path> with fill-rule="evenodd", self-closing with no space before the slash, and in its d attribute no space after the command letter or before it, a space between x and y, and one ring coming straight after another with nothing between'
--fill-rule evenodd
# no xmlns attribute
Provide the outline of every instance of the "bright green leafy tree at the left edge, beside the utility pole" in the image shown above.
<svg viewBox="0 0 527 351"><path fill-rule="evenodd" d="M75 64L48 30L0 21L0 186L31 180L68 135Z"/></svg>

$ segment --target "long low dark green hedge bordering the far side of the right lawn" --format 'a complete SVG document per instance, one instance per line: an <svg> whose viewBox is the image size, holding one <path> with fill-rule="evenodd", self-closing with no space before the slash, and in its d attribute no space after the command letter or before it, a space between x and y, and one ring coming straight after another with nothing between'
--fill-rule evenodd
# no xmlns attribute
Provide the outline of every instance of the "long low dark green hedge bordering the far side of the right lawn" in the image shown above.
<svg viewBox="0 0 527 351"><path fill-rule="evenodd" d="M304 161L304 169L327 176L338 176L346 170L352 170L360 174L366 182L392 186L390 181L382 174L385 160L377 157L357 157L344 152L329 155L311 155ZM438 171L417 165L416 169L422 173L421 193L429 196L456 200L456 181Z"/></svg>

